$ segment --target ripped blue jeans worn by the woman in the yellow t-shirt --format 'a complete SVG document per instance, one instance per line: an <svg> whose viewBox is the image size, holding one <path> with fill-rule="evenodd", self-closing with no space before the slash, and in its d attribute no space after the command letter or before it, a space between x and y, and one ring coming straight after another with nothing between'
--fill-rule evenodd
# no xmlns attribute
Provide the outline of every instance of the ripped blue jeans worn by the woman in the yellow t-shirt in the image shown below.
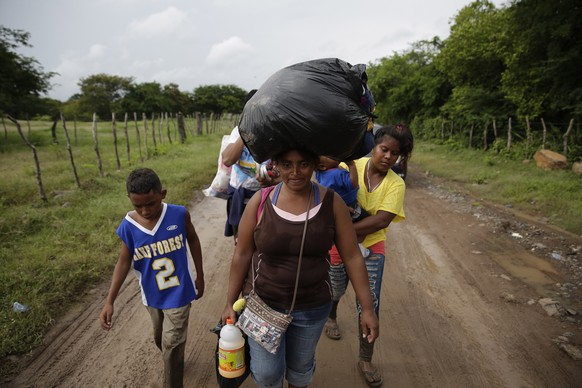
<svg viewBox="0 0 582 388"><path fill-rule="evenodd" d="M384 255L380 253L372 253L366 257L366 269L368 270L368 281L370 283L370 291L372 292L372 302L374 303L374 312L376 316L380 316L380 291L382 289L382 276L384 275ZM340 298L345 294L348 286L348 276L343 264L331 265L329 269L329 277L331 280L332 299L339 302ZM356 301L357 302L357 301ZM360 360L372 361L374 354L374 344L362 337L362 326L360 325L362 306L358 306L358 333L360 338Z"/></svg>

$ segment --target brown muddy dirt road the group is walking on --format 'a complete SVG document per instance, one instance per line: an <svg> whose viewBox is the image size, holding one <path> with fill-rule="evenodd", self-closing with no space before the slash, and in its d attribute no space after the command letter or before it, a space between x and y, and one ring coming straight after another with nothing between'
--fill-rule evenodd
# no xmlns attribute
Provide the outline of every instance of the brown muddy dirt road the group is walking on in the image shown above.
<svg viewBox="0 0 582 388"><path fill-rule="evenodd" d="M444 191L424 174L413 171L407 186L407 220L388 232L375 354L384 386L582 386L582 241ZM207 288L190 318L187 387L216 386L209 329L223 308L233 250L223 237L224 209L223 200L202 196L191 207ZM551 258L559 252L560 260ZM113 329L99 328L108 285L57 322L24 371L4 385L160 387L161 357L133 276L116 302ZM558 303L555 315L541 298ZM312 387L365 387L356 369L351 291L338 320L344 336L322 337ZM245 387L252 386L249 378Z"/></svg>

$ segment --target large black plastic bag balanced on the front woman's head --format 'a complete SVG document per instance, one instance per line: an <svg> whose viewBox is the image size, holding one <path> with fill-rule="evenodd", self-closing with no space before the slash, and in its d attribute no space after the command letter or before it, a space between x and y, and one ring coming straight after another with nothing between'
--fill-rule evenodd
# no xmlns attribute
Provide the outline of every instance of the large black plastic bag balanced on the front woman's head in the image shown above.
<svg viewBox="0 0 582 388"><path fill-rule="evenodd" d="M257 162L288 149L338 160L363 156L375 106L365 65L316 59L273 74L245 104L239 132Z"/></svg>

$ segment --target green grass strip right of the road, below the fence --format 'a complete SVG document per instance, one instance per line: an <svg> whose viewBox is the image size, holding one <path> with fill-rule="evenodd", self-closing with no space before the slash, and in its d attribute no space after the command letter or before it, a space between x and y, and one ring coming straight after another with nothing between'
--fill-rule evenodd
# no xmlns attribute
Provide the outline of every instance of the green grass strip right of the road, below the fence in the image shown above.
<svg viewBox="0 0 582 388"><path fill-rule="evenodd" d="M571 169L546 171L533 159L425 141L415 141L411 164L461 184L478 198L582 235L582 177Z"/></svg>

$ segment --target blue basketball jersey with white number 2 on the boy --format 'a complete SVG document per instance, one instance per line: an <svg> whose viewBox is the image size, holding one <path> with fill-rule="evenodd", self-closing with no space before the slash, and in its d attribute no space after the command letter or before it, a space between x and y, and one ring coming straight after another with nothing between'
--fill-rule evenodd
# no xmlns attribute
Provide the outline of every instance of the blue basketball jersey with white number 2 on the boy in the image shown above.
<svg viewBox="0 0 582 388"><path fill-rule="evenodd" d="M158 309L182 307L196 299L194 263L186 240L186 208L163 203L156 226L149 230L125 216L117 235L129 248L143 304Z"/></svg>

